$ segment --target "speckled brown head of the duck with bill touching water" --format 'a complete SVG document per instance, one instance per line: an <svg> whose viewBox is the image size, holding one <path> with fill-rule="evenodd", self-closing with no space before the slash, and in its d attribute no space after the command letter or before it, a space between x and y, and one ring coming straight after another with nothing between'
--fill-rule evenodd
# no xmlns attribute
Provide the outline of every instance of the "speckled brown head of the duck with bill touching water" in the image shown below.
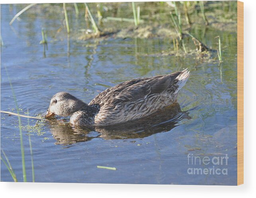
<svg viewBox="0 0 256 198"><path fill-rule="evenodd" d="M66 117L72 115L84 105L86 104L82 100L72 96L70 93L59 92L51 98L48 110L41 116L53 117L54 115L61 115Z"/></svg>

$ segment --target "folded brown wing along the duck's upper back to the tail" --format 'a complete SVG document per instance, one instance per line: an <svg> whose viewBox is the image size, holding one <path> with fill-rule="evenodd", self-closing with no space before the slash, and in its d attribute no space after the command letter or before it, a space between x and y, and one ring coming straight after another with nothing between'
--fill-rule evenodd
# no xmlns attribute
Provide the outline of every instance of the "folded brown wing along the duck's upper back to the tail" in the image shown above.
<svg viewBox="0 0 256 198"><path fill-rule="evenodd" d="M185 83L180 83L183 79L187 80L189 71L177 71L169 75L156 76L152 78L133 79L121 83L113 88L109 88L100 93L90 104L109 104L133 102L145 99L152 94L178 91ZM182 86L181 86L182 85Z"/></svg>

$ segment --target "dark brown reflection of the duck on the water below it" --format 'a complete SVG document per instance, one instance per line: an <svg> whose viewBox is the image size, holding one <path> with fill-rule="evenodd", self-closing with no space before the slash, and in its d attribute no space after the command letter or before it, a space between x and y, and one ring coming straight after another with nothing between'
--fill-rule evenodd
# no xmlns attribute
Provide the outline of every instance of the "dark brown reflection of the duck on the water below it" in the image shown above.
<svg viewBox="0 0 256 198"><path fill-rule="evenodd" d="M72 127L68 122L51 121L51 133L57 140L56 144L74 144L86 142L93 138L134 139L144 138L156 133L170 131L178 126L182 119L190 119L188 112L181 111L180 105L174 103L164 110L158 111L148 117L107 127Z"/></svg>

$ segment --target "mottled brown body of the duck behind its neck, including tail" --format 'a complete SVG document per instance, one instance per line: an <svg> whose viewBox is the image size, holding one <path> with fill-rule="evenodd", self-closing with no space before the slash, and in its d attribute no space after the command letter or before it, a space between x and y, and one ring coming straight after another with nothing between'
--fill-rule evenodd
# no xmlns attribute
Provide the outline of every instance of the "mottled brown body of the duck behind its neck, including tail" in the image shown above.
<svg viewBox="0 0 256 198"><path fill-rule="evenodd" d="M112 125L139 119L171 105L189 74L185 69L168 75L132 79L104 90L89 103L100 105L95 124Z"/></svg>

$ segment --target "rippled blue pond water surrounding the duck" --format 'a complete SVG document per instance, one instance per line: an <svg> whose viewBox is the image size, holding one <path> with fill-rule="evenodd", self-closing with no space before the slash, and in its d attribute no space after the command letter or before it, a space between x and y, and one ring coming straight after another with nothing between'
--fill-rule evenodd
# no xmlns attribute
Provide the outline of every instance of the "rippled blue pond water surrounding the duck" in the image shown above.
<svg viewBox="0 0 256 198"><path fill-rule="evenodd" d="M72 129L65 120L39 122L37 130L31 132L36 182L236 185L236 32L209 27L202 38L203 27L192 29L213 49L218 48L214 37L221 35L224 62L219 65L193 55L145 56L146 52L168 50L173 42L169 38L78 40L78 30L85 24L83 13L77 19L70 10L69 38L63 27L64 15L58 9L32 7L20 16L21 21L10 26L12 17L23 7L1 5L1 110L16 112L10 81L20 113L29 111L36 116L47 110L51 97L60 91L90 102L104 89L129 79L187 67L191 71L178 96L179 119L160 127L83 131ZM47 32L45 53L39 44L41 28ZM186 45L194 48L188 39ZM32 181L27 118L21 121L27 180ZM29 119L29 125L35 123ZM1 113L1 149L18 181L23 181L18 126L18 117ZM227 154L228 164L188 164L192 154L201 160ZM191 168L213 166L227 169L227 175L188 174ZM13 181L4 163L1 181Z"/></svg>

